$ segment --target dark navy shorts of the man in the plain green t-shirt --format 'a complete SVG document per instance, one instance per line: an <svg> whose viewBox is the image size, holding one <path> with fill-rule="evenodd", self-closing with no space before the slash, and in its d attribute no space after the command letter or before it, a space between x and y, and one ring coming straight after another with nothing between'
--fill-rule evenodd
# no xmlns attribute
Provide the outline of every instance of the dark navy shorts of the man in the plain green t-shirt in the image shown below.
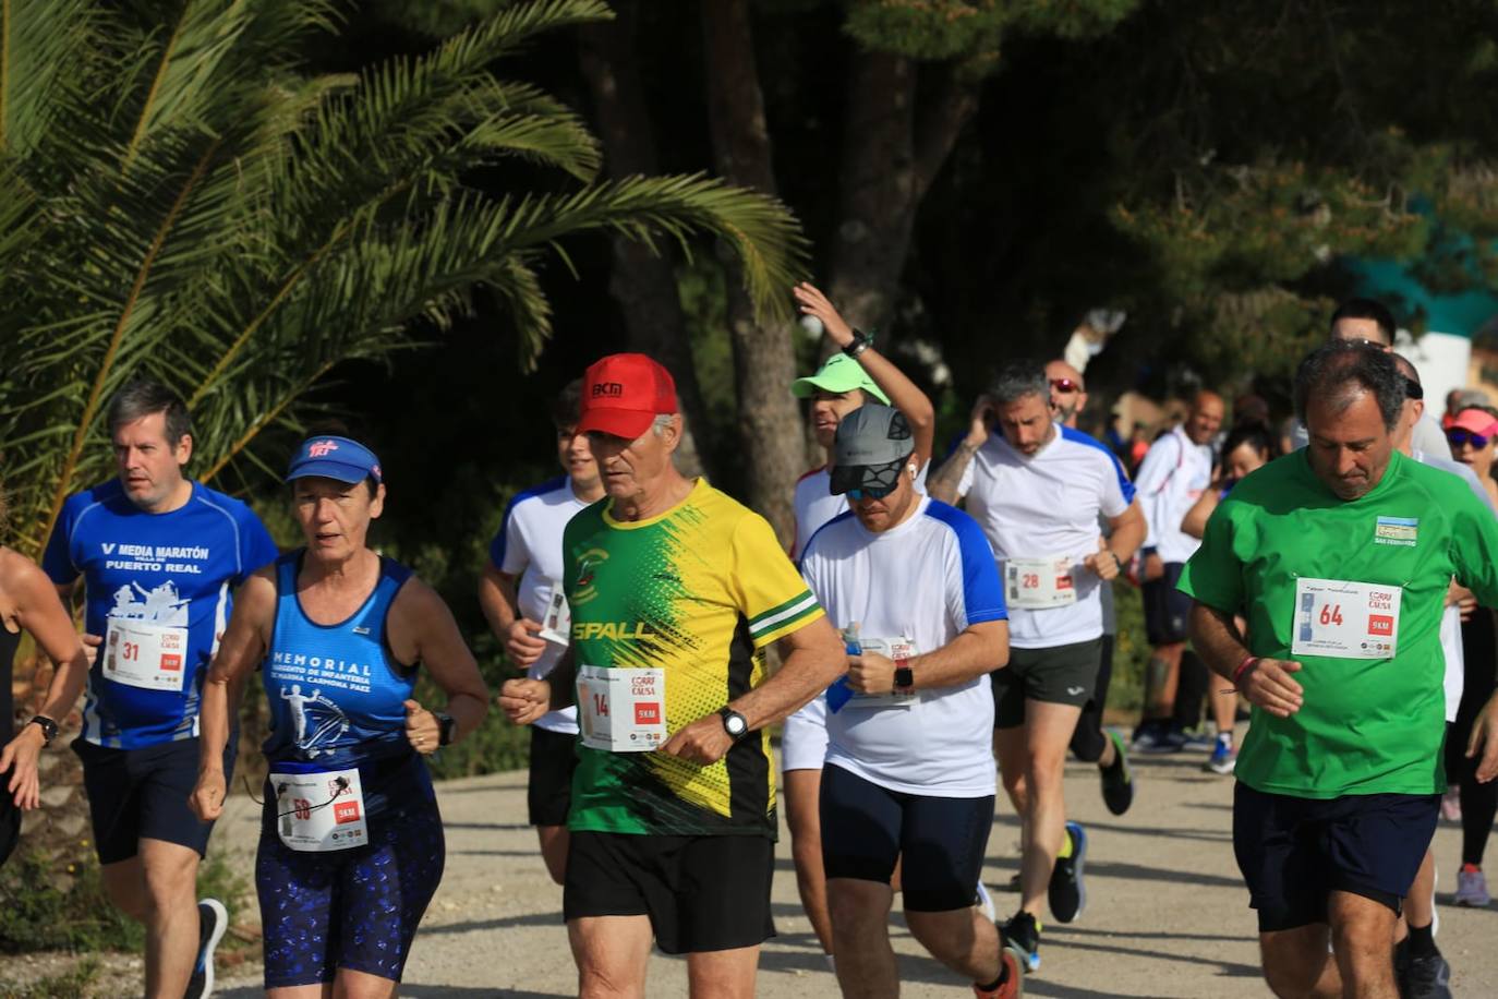
<svg viewBox="0 0 1498 999"><path fill-rule="evenodd" d="M1435 834L1438 794L1296 798L1242 780L1233 792L1233 852L1258 932L1327 921L1333 891L1399 912Z"/></svg>

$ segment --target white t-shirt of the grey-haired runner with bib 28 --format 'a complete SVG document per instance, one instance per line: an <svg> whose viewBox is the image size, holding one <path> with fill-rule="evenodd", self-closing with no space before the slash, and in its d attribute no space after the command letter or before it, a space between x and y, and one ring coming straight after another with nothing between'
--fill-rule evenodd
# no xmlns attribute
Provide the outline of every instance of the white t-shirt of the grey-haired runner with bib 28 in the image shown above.
<svg viewBox="0 0 1498 999"><path fill-rule="evenodd" d="M1010 646L1055 649L1103 635L1103 581L1082 560L1098 551L1098 515L1121 517L1134 500L1134 485L1112 451L1058 424L1050 443L1025 457L995 433L972 457L957 494L968 497L968 512L1001 563L1071 560L1076 604L1011 607Z"/></svg>

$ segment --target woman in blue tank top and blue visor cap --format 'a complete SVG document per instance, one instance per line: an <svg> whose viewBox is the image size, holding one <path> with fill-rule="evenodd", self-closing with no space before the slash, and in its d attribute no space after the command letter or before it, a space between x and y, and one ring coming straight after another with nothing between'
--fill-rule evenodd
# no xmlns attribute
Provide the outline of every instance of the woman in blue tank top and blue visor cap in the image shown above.
<svg viewBox="0 0 1498 999"><path fill-rule="evenodd" d="M270 776L255 884L265 987L391 996L442 879L442 816L422 756L472 732L488 690L452 614L369 547L379 460L343 436L303 442L286 479L306 547L252 577L202 695L192 804L223 810L229 690L264 666ZM413 698L425 666L443 711Z"/></svg>

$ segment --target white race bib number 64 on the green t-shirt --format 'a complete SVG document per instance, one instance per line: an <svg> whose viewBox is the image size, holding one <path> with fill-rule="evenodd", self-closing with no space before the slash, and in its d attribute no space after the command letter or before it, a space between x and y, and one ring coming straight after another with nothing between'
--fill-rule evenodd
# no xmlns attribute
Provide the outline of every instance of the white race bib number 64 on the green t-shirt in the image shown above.
<svg viewBox="0 0 1498 999"><path fill-rule="evenodd" d="M1293 656L1392 659L1399 640L1398 586L1296 580Z"/></svg>

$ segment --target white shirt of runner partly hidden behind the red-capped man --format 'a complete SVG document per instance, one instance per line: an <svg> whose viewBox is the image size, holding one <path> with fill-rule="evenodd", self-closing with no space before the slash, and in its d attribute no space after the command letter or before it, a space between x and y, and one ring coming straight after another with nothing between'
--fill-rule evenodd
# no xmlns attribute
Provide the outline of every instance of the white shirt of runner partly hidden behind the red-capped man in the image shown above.
<svg viewBox="0 0 1498 999"><path fill-rule="evenodd" d="M517 596L521 617L544 620L551 592L562 583L562 530L586 506L572 491L572 479L565 475L509 500L499 533L490 542L488 557L500 572L520 577ZM530 664L527 675L532 680L545 678L563 652L566 646L548 641L547 650ZM547 711L536 726L575 735L577 708Z"/></svg>

